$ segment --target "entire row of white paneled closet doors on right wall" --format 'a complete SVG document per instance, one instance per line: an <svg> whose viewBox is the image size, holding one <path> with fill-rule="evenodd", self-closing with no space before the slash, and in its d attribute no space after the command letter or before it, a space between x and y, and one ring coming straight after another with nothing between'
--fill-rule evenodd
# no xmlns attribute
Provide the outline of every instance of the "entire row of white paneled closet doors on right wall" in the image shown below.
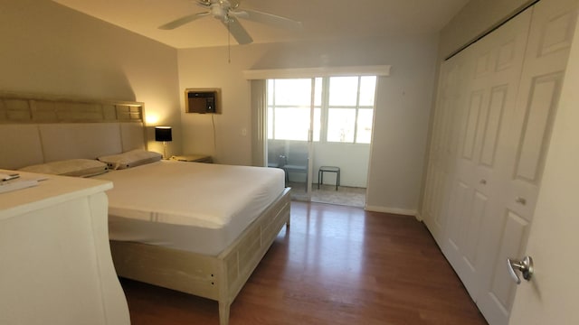
<svg viewBox="0 0 579 325"><path fill-rule="evenodd" d="M542 0L444 62L422 214L489 323L516 291L574 34L577 0Z"/></svg>

